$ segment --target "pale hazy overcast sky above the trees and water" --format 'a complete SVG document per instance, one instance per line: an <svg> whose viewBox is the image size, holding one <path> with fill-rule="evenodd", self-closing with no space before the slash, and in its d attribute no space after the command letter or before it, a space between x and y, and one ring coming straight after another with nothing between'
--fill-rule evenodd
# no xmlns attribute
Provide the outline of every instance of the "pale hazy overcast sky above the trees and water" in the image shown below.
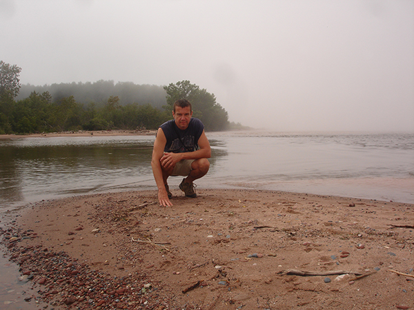
<svg viewBox="0 0 414 310"><path fill-rule="evenodd" d="M0 29L23 84L189 80L243 125L414 132L413 0L0 0Z"/></svg>

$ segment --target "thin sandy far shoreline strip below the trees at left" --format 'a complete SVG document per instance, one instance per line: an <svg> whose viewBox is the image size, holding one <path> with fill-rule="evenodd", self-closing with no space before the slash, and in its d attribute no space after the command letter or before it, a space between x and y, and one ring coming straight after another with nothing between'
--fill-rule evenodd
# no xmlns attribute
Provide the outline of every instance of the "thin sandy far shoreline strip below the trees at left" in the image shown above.
<svg viewBox="0 0 414 310"><path fill-rule="evenodd" d="M63 136L152 136L156 130L79 130L77 132L48 132L42 134L0 134L1 139L52 138Z"/></svg>

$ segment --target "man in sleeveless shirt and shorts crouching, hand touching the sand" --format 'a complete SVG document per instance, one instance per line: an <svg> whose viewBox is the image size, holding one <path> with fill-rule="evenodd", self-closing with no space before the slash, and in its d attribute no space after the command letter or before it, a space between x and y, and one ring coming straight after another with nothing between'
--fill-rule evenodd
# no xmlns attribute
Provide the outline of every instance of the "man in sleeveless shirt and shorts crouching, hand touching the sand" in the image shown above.
<svg viewBox="0 0 414 310"><path fill-rule="evenodd" d="M169 176L186 176L179 188L187 197L197 197L193 181L205 176L210 168L210 143L204 125L193 118L191 104L186 99L175 101L174 119L158 128L152 150L152 173L158 187L158 200L162 206L172 206L168 188Z"/></svg>

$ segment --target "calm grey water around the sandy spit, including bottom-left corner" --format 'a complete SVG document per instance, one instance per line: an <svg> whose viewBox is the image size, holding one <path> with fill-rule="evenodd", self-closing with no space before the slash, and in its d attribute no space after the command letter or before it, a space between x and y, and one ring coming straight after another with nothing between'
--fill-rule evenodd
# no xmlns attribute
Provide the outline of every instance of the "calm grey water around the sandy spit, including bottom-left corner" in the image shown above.
<svg viewBox="0 0 414 310"><path fill-rule="evenodd" d="M414 203L414 134L207 134L213 154L199 188L269 189ZM0 140L0 213L79 194L154 189L155 136ZM177 188L181 178L170 178ZM3 221L4 223L4 221ZM0 223L0 225L3 225ZM37 309L0 257L0 308Z"/></svg>

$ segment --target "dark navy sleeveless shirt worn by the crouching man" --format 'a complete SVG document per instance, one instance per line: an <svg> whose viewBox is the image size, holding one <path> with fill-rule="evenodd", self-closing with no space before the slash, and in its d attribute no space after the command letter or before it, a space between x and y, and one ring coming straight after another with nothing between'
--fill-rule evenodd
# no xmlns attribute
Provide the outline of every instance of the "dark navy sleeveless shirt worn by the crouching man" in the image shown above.
<svg viewBox="0 0 414 310"><path fill-rule="evenodd" d="M203 133L204 125L198 118L192 117L186 130L180 130L173 119L159 127L167 138L164 152L184 153L199 149L198 141Z"/></svg>

